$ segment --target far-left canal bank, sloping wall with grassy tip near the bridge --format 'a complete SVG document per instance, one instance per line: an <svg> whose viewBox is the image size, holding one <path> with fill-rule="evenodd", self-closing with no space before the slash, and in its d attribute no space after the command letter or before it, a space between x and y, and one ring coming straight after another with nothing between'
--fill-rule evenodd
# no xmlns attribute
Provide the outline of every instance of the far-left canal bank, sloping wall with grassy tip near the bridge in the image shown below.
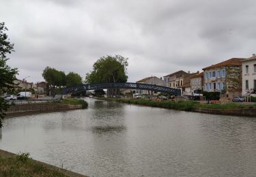
<svg viewBox="0 0 256 177"><path fill-rule="evenodd" d="M39 114L45 112L60 112L87 108L88 103L83 99L67 98L51 103L23 103L10 106L5 114L7 116L20 116Z"/></svg>

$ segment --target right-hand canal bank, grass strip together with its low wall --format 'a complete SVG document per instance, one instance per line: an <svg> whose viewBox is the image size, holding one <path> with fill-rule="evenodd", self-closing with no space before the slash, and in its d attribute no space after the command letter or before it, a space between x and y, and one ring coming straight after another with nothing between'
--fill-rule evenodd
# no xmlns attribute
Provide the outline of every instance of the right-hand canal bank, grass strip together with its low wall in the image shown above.
<svg viewBox="0 0 256 177"><path fill-rule="evenodd" d="M225 104L203 104L196 101L170 101L170 100L152 100L152 99L113 99L99 98L106 101L118 101L120 103L131 103L143 106L152 106L156 108L168 108L173 110L184 110L191 112L202 112L209 114L225 114L237 116L255 116L256 103L244 105L241 103L225 103Z"/></svg>

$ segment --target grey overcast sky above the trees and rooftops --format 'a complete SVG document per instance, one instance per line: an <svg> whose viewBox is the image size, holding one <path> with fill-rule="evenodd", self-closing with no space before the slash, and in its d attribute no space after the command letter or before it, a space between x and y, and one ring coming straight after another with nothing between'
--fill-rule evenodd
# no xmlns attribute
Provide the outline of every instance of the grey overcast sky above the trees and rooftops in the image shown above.
<svg viewBox="0 0 256 177"><path fill-rule="evenodd" d="M102 56L128 59L128 81L256 52L256 1L0 0L16 52L8 64L42 81L46 66L83 78Z"/></svg>

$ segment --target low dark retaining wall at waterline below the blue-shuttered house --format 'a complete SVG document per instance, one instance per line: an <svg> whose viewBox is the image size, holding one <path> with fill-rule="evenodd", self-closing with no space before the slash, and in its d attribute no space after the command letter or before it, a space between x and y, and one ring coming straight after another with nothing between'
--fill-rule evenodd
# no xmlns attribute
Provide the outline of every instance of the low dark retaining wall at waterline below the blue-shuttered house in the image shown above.
<svg viewBox="0 0 256 177"><path fill-rule="evenodd" d="M253 116L256 117L256 108L243 108L243 109L206 109L206 108L196 108L195 112L202 112L208 114L223 114L231 116Z"/></svg>

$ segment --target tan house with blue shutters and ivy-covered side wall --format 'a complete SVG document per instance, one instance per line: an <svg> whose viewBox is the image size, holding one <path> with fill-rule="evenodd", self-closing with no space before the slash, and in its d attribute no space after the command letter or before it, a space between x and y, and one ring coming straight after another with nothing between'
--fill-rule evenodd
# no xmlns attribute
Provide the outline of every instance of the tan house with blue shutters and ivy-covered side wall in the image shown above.
<svg viewBox="0 0 256 177"><path fill-rule="evenodd" d="M228 98L242 92L242 60L232 58L203 68L204 91L225 91Z"/></svg>

